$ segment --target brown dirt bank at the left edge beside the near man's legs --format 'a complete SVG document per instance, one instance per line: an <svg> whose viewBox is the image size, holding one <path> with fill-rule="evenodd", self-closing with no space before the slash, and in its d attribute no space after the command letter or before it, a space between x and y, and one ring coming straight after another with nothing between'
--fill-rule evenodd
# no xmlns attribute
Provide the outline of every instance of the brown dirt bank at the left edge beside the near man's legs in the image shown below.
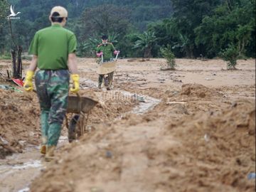
<svg viewBox="0 0 256 192"><path fill-rule="evenodd" d="M0 90L0 158L40 141L36 94Z"/></svg>

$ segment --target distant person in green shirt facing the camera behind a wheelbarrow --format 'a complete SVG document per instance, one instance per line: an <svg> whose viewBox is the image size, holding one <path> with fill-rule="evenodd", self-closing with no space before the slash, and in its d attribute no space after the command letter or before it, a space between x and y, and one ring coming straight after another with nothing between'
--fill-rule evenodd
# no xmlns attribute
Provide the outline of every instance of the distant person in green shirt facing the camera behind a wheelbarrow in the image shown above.
<svg viewBox="0 0 256 192"><path fill-rule="evenodd" d="M117 55L119 53L119 50L115 50L114 46L112 43L107 42L107 36L102 36L102 43L97 46L97 57L103 57L103 62L108 62L108 61L113 61L113 55ZM107 90L110 90L110 87L112 85L112 80L113 80L113 75L114 71L111 73L107 74L107 78L105 78L105 75L99 75L99 80L98 80L98 87L101 88L102 85L102 80L103 78L105 79L105 85L107 87Z"/></svg>

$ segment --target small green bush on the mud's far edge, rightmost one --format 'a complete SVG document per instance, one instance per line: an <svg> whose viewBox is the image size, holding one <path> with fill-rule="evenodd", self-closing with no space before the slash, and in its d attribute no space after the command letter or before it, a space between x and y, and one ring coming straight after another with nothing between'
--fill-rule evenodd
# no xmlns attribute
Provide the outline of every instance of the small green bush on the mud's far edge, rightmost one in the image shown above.
<svg viewBox="0 0 256 192"><path fill-rule="evenodd" d="M235 69L238 60L238 49L235 46L228 46L225 50L220 53L220 58L225 60L227 63L228 70Z"/></svg>

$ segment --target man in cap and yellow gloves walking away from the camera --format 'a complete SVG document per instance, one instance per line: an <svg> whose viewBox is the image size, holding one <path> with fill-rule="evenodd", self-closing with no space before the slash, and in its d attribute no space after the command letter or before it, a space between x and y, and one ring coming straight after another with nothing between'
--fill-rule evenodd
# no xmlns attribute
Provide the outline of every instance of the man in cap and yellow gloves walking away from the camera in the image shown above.
<svg viewBox="0 0 256 192"><path fill-rule="evenodd" d="M33 90L35 75L36 92L41 108L41 153L46 161L54 159L61 126L68 107L70 77L73 80L71 92L79 91L79 75L75 51L75 34L63 28L68 19L68 11L55 6L49 16L51 26L37 31L28 52L33 59L26 73L24 89Z"/></svg>

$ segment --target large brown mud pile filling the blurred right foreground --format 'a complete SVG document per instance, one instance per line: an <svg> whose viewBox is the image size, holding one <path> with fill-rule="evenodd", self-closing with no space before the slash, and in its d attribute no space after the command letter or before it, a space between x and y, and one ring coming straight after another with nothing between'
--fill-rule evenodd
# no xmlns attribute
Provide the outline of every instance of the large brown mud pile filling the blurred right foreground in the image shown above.
<svg viewBox="0 0 256 192"><path fill-rule="evenodd" d="M255 170L255 102L228 106L173 119L177 111L168 114L172 106L162 103L99 124L60 151L31 190L253 191L247 174Z"/></svg>

